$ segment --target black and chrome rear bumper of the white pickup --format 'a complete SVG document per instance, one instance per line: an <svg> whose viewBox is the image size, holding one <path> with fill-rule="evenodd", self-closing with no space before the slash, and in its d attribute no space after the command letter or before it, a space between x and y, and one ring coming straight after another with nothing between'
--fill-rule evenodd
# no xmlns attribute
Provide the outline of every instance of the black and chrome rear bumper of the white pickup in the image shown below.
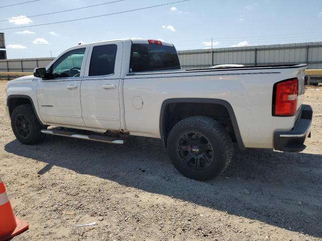
<svg viewBox="0 0 322 241"><path fill-rule="evenodd" d="M301 114L289 132L274 133L274 149L283 152L301 152L306 146L306 137L311 137L313 111L310 105L303 104Z"/></svg>

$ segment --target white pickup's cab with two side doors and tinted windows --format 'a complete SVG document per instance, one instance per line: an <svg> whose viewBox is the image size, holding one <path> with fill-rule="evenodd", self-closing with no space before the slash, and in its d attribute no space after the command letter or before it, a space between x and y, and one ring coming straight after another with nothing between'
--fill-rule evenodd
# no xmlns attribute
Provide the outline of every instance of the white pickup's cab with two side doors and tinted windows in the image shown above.
<svg viewBox="0 0 322 241"><path fill-rule="evenodd" d="M124 105L124 77L142 70L181 69L173 45L142 42L109 41L78 45L63 52L46 68L48 77L37 85L42 121L65 127L126 130L120 108ZM165 57L169 58L168 66L159 66L158 61Z"/></svg>

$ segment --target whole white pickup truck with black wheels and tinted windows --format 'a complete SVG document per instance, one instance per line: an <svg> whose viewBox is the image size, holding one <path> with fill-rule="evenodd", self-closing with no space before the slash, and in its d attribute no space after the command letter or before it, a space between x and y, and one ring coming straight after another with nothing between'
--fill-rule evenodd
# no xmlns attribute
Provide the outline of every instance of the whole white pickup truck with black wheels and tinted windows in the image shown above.
<svg viewBox="0 0 322 241"><path fill-rule="evenodd" d="M182 70L173 44L113 40L72 47L7 84L16 138L45 134L123 144L162 139L185 176L209 180L240 149L304 150L312 109L305 64ZM54 128L50 127L53 126ZM48 128L50 127L50 128Z"/></svg>

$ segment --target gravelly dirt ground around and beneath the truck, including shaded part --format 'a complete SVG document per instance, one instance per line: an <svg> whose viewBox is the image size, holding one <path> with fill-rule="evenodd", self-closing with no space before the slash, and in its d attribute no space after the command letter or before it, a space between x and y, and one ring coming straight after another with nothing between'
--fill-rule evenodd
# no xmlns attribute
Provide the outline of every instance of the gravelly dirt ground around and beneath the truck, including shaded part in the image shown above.
<svg viewBox="0 0 322 241"><path fill-rule="evenodd" d="M217 179L180 175L160 140L113 146L63 137L24 146L0 81L0 175L30 228L13 240L322 240L322 88L308 87L302 153L234 151ZM97 225L76 227L97 222Z"/></svg>

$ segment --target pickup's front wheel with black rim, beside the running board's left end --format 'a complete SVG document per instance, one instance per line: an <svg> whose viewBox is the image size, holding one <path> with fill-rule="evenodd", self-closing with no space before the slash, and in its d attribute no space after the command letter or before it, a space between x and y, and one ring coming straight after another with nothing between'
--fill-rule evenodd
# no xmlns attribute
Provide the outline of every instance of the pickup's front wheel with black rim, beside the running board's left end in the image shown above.
<svg viewBox="0 0 322 241"><path fill-rule="evenodd" d="M11 114L11 127L19 142L33 145L40 142L44 135L33 107L30 104L18 105Z"/></svg>

